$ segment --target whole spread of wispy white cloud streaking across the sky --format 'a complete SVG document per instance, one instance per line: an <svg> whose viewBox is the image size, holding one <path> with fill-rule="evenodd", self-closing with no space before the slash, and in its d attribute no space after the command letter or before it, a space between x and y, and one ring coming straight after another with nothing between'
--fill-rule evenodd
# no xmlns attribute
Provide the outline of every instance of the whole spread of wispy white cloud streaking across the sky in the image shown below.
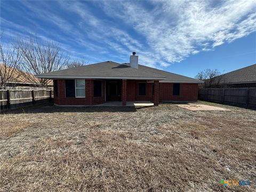
<svg viewBox="0 0 256 192"><path fill-rule="evenodd" d="M95 13L85 2L58 3L62 12L79 18L77 20L61 16L48 3L39 2L38 5L22 2L22 5L29 9L27 14L31 17L28 21L39 31L44 30L43 25L35 22L33 17L55 26L55 30L45 30L44 34L56 37L70 52L76 51L71 45L79 45L97 54L108 54L108 60L118 58L119 61L128 62L129 55L135 51L140 64L157 68L168 67L191 54L214 50L216 46L256 31L255 1L147 3L149 5L143 1L94 2L99 12L113 20ZM2 24L10 26L1 19ZM115 23L117 20L119 23ZM11 24L13 29L17 28L14 23ZM20 26L17 31L21 33L21 30L27 28ZM11 30L7 31L11 33ZM78 50L74 57L82 57L83 54ZM93 56L86 55L92 61L104 58Z"/></svg>

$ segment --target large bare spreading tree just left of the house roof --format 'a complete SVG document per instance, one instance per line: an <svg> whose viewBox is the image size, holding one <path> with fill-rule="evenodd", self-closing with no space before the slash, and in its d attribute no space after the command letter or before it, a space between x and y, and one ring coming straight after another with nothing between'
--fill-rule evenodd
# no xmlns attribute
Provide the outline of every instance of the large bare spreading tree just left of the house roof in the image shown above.
<svg viewBox="0 0 256 192"><path fill-rule="evenodd" d="M52 41L38 41L30 35L29 39L18 38L17 47L22 55L22 69L29 74L38 75L61 70L67 66L69 57L63 52L60 44ZM25 75L27 81L35 83L33 75ZM47 87L50 79L40 78L41 87Z"/></svg>

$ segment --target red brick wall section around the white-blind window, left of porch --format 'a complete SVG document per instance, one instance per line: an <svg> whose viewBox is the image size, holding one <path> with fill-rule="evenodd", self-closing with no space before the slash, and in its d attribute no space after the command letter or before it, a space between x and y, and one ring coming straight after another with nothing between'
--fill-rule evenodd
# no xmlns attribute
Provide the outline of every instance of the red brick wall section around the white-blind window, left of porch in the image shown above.
<svg viewBox="0 0 256 192"><path fill-rule="evenodd" d="M65 79L58 79L58 97L54 103L58 105L97 105L105 102L105 81L102 81L102 97L93 97L93 80L85 80L85 98L66 98Z"/></svg>

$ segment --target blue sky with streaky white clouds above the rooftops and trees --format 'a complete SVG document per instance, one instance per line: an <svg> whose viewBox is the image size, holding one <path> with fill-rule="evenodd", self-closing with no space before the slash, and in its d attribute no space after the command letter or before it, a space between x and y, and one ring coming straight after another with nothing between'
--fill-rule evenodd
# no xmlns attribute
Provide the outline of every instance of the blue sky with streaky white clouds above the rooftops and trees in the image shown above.
<svg viewBox="0 0 256 192"><path fill-rule="evenodd" d="M89 63L139 63L194 77L256 63L256 1L1 1L2 41L36 34Z"/></svg>

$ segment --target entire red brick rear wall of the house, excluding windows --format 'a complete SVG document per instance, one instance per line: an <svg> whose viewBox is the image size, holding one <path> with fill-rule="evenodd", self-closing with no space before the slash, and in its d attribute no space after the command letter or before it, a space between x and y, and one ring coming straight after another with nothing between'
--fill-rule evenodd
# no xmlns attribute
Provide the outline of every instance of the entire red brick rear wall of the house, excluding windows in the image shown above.
<svg viewBox="0 0 256 192"><path fill-rule="evenodd" d="M127 101L154 101L153 83L146 84L146 95L139 95L139 82L137 80L126 81ZM58 79L58 97L54 97L54 103L58 105L97 105L105 102L105 81L102 81L102 97L93 97L93 80L85 80L85 98L66 98L65 79ZM197 101L198 84L181 83L180 95L172 95L172 83L159 83L159 101ZM55 90L54 90L55 91Z"/></svg>

